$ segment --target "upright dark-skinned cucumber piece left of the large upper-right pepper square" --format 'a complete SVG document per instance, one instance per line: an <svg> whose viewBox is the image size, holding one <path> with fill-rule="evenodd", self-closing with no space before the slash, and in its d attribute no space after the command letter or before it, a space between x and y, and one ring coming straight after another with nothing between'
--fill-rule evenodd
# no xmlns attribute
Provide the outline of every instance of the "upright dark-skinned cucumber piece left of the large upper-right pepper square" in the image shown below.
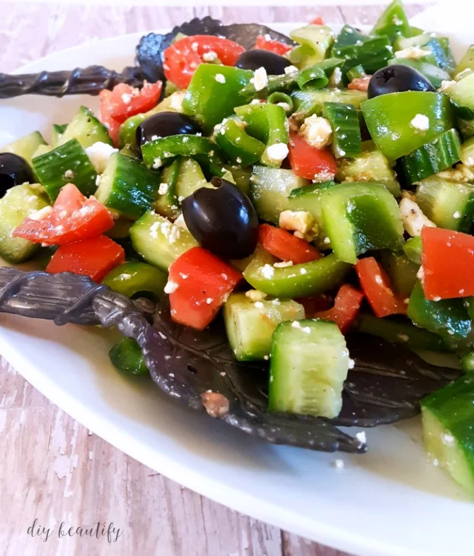
<svg viewBox="0 0 474 556"><path fill-rule="evenodd" d="M336 158L355 158L362 153L359 114L351 105L325 102L323 116L333 129L333 153Z"/></svg>

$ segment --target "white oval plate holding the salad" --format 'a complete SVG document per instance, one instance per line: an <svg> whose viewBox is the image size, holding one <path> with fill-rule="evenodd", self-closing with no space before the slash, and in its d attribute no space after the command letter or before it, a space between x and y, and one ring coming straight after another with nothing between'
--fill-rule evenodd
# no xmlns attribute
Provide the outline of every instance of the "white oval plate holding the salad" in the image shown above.
<svg viewBox="0 0 474 556"><path fill-rule="evenodd" d="M294 25L274 25L288 32ZM57 52L22 71L132 64L140 34ZM0 101L3 131L49 137L93 97ZM472 555L474 506L427 463L417 420L368 430L365 456L272 446L129 381L108 360L110 331L1 315L0 353L69 415L142 463L202 495L360 555ZM352 431L355 432L355 431ZM336 470L336 457L345 468Z"/></svg>

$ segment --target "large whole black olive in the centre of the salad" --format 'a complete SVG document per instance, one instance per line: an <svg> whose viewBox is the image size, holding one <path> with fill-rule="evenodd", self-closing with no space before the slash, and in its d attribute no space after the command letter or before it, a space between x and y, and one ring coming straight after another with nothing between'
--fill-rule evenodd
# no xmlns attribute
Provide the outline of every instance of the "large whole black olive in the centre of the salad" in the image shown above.
<svg viewBox="0 0 474 556"><path fill-rule="evenodd" d="M243 259L257 246L258 216L248 196L226 179L201 187L183 201L188 230L204 249L224 259Z"/></svg>

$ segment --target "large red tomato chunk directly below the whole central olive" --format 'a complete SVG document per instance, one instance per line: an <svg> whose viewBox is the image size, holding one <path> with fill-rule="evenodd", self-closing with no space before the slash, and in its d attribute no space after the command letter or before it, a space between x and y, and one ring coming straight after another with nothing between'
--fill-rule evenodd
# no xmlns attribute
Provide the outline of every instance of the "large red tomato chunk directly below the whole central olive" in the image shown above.
<svg viewBox="0 0 474 556"><path fill-rule="evenodd" d="M169 268L171 318L205 329L241 279L240 272L206 249L189 249Z"/></svg>

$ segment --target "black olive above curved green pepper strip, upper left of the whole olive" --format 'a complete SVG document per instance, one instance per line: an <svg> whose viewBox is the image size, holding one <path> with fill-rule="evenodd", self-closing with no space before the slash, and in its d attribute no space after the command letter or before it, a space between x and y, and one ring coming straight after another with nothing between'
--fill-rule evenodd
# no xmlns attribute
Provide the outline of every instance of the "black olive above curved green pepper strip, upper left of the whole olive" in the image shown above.
<svg viewBox="0 0 474 556"><path fill-rule="evenodd" d="M178 112L158 112L144 119L137 127L137 148L144 143L153 141L157 137L170 135L197 134L202 129L196 122L185 114Z"/></svg>

